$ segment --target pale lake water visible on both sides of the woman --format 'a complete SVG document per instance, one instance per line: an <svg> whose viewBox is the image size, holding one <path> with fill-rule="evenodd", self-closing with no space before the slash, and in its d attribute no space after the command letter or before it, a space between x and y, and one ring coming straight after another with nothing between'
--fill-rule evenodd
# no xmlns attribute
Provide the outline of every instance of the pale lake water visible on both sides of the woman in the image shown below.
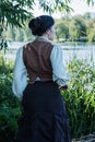
<svg viewBox="0 0 95 142"><path fill-rule="evenodd" d="M25 43L12 42L8 44L9 50L5 54L5 58L15 59L16 50ZM92 61L95 66L95 45L94 44L58 44L62 48L63 62L69 63L76 57L80 60Z"/></svg>

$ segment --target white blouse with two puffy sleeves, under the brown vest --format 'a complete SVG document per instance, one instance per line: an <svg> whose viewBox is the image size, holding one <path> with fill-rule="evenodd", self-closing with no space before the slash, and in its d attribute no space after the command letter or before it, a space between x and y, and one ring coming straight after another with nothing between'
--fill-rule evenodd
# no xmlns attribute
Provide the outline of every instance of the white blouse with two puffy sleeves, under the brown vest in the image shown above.
<svg viewBox="0 0 95 142"><path fill-rule="evenodd" d="M69 73L66 71L62 59L62 49L58 45L54 45L50 55L50 61L52 66L52 80L58 85L63 86L70 79ZM16 97L22 99L23 91L27 85L27 71L23 62L23 47L19 48L15 58L12 90Z"/></svg>

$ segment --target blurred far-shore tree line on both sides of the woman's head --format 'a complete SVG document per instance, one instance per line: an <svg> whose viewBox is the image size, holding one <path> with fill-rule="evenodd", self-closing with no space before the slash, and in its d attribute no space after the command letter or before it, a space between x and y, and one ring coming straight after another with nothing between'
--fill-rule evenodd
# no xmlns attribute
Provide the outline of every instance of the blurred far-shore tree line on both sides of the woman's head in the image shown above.
<svg viewBox="0 0 95 142"><path fill-rule="evenodd" d="M3 31L7 40L27 42L34 39L28 22L20 28L9 25ZM95 13L56 19L56 42L95 42Z"/></svg>

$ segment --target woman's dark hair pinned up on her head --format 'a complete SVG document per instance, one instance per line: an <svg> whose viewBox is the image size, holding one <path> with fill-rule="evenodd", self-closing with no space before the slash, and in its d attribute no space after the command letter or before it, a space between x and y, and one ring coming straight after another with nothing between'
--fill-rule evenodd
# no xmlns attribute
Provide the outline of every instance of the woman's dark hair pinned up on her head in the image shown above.
<svg viewBox="0 0 95 142"><path fill-rule="evenodd" d="M40 15L36 19L32 19L28 23L28 27L33 35L41 36L54 24L55 20L50 15Z"/></svg>

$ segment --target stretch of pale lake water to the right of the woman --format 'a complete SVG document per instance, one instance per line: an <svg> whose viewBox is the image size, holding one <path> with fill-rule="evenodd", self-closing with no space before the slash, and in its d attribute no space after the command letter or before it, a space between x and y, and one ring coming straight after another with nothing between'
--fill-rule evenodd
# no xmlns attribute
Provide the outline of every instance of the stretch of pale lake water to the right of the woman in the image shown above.
<svg viewBox="0 0 95 142"><path fill-rule="evenodd" d="M79 60L95 64L95 45L67 45L62 46L63 61L69 63L76 57Z"/></svg>

